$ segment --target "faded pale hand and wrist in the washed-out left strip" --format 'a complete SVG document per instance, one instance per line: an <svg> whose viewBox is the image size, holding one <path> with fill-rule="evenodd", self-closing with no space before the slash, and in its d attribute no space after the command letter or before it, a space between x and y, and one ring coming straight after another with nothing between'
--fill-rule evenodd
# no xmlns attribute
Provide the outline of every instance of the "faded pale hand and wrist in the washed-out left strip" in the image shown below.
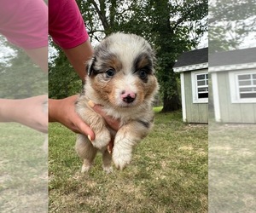
<svg viewBox="0 0 256 213"><path fill-rule="evenodd" d="M17 122L47 133L48 116L47 109L44 109L44 103L47 100L47 95L17 100L1 99L0 121Z"/></svg>

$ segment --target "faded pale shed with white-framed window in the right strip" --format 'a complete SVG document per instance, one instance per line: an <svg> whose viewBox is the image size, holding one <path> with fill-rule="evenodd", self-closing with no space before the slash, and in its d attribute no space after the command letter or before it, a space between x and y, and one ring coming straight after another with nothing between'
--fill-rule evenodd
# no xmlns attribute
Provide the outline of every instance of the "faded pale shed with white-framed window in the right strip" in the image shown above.
<svg viewBox="0 0 256 213"><path fill-rule="evenodd" d="M256 123L256 48L209 55L217 122Z"/></svg>

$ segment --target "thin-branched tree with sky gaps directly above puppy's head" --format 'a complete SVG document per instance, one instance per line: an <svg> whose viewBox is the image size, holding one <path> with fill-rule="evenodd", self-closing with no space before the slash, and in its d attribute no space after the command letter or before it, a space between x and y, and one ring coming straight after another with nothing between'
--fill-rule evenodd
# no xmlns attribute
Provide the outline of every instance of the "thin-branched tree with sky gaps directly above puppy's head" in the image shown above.
<svg viewBox="0 0 256 213"><path fill-rule="evenodd" d="M102 41L112 32L127 32L127 23L135 18L138 5L131 0L77 0L77 3L92 43ZM132 22L137 24L137 20Z"/></svg>

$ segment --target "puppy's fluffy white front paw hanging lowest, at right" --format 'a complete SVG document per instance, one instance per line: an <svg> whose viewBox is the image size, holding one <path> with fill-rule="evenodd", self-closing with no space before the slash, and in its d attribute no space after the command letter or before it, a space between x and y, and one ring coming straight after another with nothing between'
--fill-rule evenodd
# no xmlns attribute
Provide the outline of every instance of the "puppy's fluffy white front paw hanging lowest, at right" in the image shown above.
<svg viewBox="0 0 256 213"><path fill-rule="evenodd" d="M123 170L127 164L131 163L131 150L122 147L113 147L113 164L119 170Z"/></svg>

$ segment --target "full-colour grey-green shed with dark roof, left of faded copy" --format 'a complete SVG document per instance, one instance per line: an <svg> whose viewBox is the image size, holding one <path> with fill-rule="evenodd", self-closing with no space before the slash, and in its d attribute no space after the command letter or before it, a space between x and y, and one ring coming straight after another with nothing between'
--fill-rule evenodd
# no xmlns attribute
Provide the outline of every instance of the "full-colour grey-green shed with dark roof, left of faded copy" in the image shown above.
<svg viewBox="0 0 256 213"><path fill-rule="evenodd" d="M183 121L208 123L208 48L183 53L173 71L180 73Z"/></svg>

